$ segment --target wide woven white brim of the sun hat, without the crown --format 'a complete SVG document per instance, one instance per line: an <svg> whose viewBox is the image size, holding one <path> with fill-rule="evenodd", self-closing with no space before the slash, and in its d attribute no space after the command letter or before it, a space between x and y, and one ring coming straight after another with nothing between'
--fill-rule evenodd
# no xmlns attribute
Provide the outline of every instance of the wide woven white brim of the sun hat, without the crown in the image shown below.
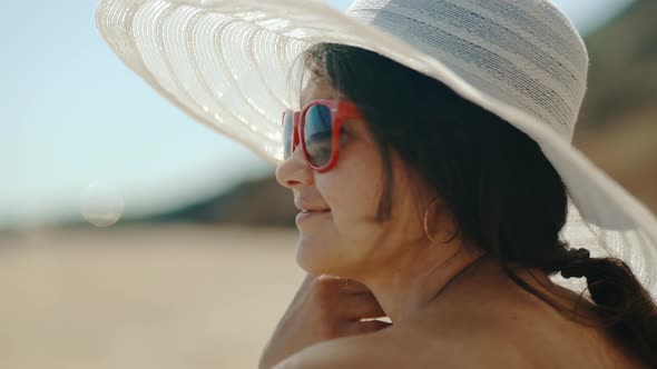
<svg viewBox="0 0 657 369"><path fill-rule="evenodd" d="M101 0L97 24L156 91L272 163L283 154L281 113L297 107L301 81L290 68L308 46L356 46L433 77L536 140L568 188L562 238L622 259L657 300L654 215L549 124L394 36L324 3L294 0Z"/></svg>

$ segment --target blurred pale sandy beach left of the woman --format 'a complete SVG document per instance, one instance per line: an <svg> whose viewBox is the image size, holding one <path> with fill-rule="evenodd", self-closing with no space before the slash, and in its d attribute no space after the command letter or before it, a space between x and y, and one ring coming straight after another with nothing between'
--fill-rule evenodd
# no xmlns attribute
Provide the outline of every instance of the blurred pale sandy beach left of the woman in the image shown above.
<svg viewBox="0 0 657 369"><path fill-rule="evenodd" d="M0 238L0 368L255 368L305 272L294 230Z"/></svg>

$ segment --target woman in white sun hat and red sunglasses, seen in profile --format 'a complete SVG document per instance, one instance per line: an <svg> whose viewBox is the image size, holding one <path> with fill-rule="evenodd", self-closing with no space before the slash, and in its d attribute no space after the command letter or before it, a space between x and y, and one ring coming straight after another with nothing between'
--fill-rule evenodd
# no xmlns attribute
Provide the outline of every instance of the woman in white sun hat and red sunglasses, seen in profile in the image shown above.
<svg viewBox="0 0 657 369"><path fill-rule="evenodd" d="M107 0L98 23L294 195L308 276L261 368L657 367L656 222L569 144L588 59L548 1Z"/></svg>

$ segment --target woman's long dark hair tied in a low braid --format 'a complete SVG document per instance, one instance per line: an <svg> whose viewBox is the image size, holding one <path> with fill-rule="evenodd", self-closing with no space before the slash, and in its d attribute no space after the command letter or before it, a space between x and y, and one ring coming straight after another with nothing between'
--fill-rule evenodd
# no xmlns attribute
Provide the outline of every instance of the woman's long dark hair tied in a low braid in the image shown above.
<svg viewBox="0 0 657 369"><path fill-rule="evenodd" d="M356 103L382 157L394 151L437 190L461 235L498 260L516 283L559 309L514 270L586 277L594 310L611 337L657 367L657 307L621 260L582 257L587 251L560 239L567 191L536 141L435 79L375 52L318 43L302 60L305 70ZM380 220L390 216L394 186L390 160L383 161L388 186Z"/></svg>

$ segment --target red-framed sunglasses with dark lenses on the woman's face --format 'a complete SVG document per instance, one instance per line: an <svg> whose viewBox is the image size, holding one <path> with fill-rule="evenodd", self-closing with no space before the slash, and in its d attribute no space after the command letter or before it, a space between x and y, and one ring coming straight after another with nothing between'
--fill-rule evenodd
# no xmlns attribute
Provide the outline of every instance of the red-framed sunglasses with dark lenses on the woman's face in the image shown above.
<svg viewBox="0 0 657 369"><path fill-rule="evenodd" d="M292 156L298 143L306 162L318 172L331 170L337 162L340 133L344 121L361 119L353 102L314 100L301 111L283 112L284 159Z"/></svg>

